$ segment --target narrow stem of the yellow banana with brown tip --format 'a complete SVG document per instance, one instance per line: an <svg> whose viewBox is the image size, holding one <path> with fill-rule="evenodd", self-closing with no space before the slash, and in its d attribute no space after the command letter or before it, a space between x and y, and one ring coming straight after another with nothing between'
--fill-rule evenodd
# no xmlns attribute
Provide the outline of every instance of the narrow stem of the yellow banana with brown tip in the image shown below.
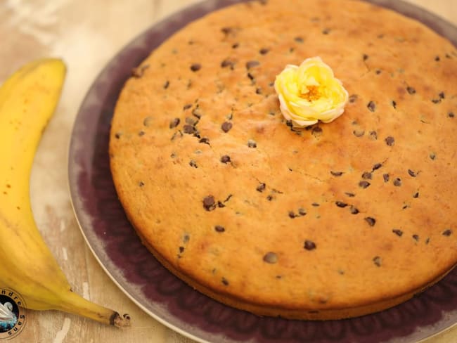
<svg viewBox="0 0 457 343"><path fill-rule="evenodd" d="M90 318L106 325L114 325L117 328L130 326L130 316L127 313L120 316L116 311L89 302L75 292L68 292L56 309Z"/></svg>

